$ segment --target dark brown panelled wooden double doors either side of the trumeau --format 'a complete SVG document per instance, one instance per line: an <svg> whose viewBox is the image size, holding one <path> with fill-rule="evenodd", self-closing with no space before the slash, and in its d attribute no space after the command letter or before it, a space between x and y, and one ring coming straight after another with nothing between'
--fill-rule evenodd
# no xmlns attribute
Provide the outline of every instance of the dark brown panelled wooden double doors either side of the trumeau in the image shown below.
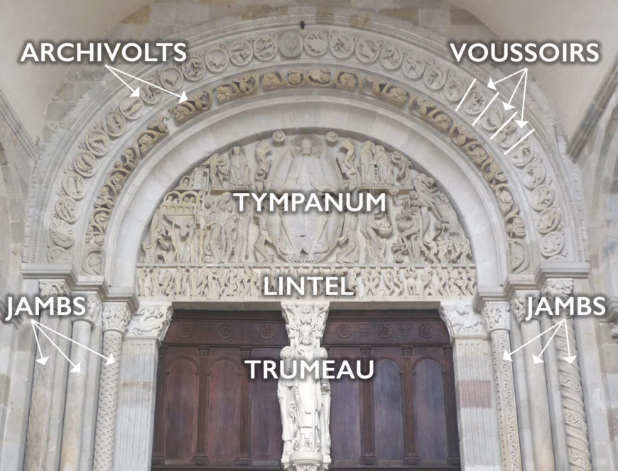
<svg viewBox="0 0 618 471"><path fill-rule="evenodd" d="M159 353L153 470L278 470L276 379L245 359L278 360L278 312L176 311ZM432 311L331 311L329 358L372 379L332 379L332 470L459 469L448 332Z"/></svg>

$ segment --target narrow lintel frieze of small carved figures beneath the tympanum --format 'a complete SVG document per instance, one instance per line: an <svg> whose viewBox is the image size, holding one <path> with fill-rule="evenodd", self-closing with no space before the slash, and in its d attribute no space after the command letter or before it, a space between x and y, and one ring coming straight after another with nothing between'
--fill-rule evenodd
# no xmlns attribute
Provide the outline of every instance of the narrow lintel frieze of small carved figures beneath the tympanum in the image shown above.
<svg viewBox="0 0 618 471"><path fill-rule="evenodd" d="M141 297L168 299L273 299L265 295L276 292L278 277L301 275L345 276L354 299L396 296L414 297L470 297L475 293L475 269L470 265L451 267L348 267L346 265L298 266L261 265L141 265L138 268L138 287ZM265 279L266 278L266 282ZM323 294L324 289L321 287ZM282 297L283 298L283 297Z"/></svg>

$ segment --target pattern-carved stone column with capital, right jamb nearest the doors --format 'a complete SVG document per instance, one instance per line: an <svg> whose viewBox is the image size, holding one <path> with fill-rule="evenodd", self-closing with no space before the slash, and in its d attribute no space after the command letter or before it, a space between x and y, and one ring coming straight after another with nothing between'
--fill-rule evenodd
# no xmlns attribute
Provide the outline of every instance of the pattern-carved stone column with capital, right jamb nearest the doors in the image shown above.
<svg viewBox="0 0 618 471"><path fill-rule="evenodd" d="M502 465L505 470L520 471L521 452L519 450L519 424L517 423L513 365L503 358L505 351L511 352L511 340L509 338L511 309L509 303L486 302L483 306L483 319L492 338Z"/></svg>

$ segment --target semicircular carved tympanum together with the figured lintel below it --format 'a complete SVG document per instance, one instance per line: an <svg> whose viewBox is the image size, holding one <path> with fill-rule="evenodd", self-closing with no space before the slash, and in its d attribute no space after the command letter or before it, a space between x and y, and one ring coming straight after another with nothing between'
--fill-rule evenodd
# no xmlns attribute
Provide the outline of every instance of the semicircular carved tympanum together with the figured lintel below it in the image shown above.
<svg viewBox="0 0 618 471"><path fill-rule="evenodd" d="M355 208L384 194L386 205L258 212L248 196L239 211L232 193L261 191L313 192L323 195L322 205L326 194L345 192ZM264 264L280 264L286 275L328 262L349 272L360 296L466 296L475 289L470 241L434 179L395 150L335 131L276 131L205 157L155 211L138 282L143 296L259 297ZM218 279L229 281L218 286Z"/></svg>

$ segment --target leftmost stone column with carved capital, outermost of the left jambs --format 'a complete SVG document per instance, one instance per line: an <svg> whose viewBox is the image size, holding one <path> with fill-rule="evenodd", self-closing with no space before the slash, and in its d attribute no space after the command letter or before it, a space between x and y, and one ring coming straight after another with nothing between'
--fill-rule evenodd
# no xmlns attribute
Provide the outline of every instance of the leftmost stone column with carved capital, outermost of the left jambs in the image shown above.
<svg viewBox="0 0 618 471"><path fill-rule="evenodd" d="M45 301L51 297L65 297L70 294L67 284L59 279L41 280L39 289L40 297ZM55 331L63 331L60 318L48 316L48 314L48 311L44 311L38 321ZM54 343L59 340L54 337L54 333L49 331L45 331L45 333L50 336ZM62 333L70 334L68 331ZM37 334L41 348L44 349L44 355L49 358L45 365L37 362L34 368L30 414L28 415L26 458L23 469L27 471L57 470L60 460L62 414L68 362L53 345L50 345L40 331L37 331ZM59 346L62 348L63 343L60 343ZM38 358L38 353L36 353L36 358Z"/></svg>

